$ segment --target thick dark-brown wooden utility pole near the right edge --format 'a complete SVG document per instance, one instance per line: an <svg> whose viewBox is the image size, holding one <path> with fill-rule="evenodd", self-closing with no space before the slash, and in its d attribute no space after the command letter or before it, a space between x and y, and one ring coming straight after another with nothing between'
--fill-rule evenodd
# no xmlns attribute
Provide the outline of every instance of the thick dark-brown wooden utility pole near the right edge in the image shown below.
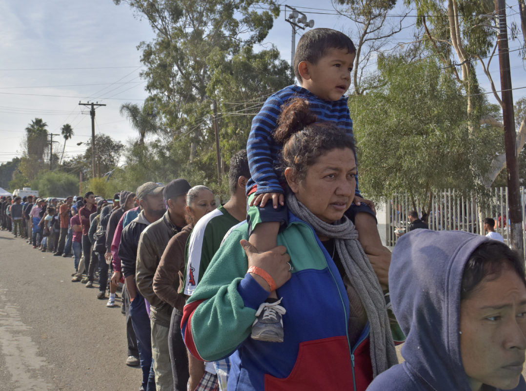
<svg viewBox="0 0 526 391"><path fill-rule="evenodd" d="M519 191L519 170L517 167L517 146L515 145L515 116L513 113L506 4L505 0L494 0L494 2L498 28L497 44L499 46L504 148L506 151L506 170L508 172L508 204L510 207L508 214L510 218L511 247L519 253L521 259L524 259L521 196Z"/></svg>

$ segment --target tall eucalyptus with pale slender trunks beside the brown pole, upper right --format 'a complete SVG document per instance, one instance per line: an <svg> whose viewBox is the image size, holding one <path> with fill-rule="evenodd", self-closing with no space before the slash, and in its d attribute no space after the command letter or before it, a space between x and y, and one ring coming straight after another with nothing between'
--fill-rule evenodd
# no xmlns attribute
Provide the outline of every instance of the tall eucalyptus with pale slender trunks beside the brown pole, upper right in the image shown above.
<svg viewBox="0 0 526 391"><path fill-rule="evenodd" d="M475 72L479 64L488 78L491 93L502 107L500 96L489 72L489 65L497 51L493 0L404 0L417 9L417 26L422 29L427 48L440 58L444 71L454 77L468 98L467 114L471 133L483 125L502 129L498 118L484 112L483 94ZM519 6L522 10L521 1ZM522 14L521 14L522 16ZM526 37L526 25L521 25ZM526 141L526 117L519 118L517 151L519 155ZM500 136L495 133L493 137ZM480 173L479 181L490 187L505 166L505 154L494 156L487 173Z"/></svg>

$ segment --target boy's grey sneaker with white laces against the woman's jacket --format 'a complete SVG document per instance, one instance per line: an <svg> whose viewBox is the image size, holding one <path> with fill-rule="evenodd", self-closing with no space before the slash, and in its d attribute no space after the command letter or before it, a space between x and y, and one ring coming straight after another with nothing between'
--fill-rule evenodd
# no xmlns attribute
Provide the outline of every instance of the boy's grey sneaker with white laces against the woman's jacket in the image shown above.
<svg viewBox="0 0 526 391"><path fill-rule="evenodd" d="M267 342L283 342L283 319L286 310L280 306L281 299L274 303L261 303L256 320L252 323L252 339Z"/></svg>

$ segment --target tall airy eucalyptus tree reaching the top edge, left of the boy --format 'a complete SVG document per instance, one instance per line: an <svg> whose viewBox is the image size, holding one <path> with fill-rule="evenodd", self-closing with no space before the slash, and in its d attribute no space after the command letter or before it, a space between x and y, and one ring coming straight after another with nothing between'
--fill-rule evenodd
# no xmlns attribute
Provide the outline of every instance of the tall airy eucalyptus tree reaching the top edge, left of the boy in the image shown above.
<svg viewBox="0 0 526 391"><path fill-rule="evenodd" d="M222 73L226 63L264 41L279 7L273 0L114 0L121 2L137 17L146 18L156 33L153 41L138 46L146 65L141 75L165 132L174 143L187 145L182 151L184 159L193 162L203 145L208 151L213 143L207 132L211 129L211 100L217 95L210 93L209 84L228 76ZM289 79L285 73L284 81ZM256 88L252 97L260 96L258 89L265 87ZM242 96L237 99L242 100Z"/></svg>

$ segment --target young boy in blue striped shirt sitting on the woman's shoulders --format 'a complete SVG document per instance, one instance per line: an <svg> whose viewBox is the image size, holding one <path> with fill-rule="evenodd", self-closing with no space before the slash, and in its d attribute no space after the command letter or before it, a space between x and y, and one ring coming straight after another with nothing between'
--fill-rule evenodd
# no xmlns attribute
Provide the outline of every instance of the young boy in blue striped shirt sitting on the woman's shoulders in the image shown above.
<svg viewBox="0 0 526 391"><path fill-rule="evenodd" d="M342 132L352 135L347 97L343 94L351 83L351 71L356 47L345 34L330 28L315 28L305 33L298 42L294 57L294 73L301 86L291 85L271 95L252 121L247 142L251 179L247 183L250 243L259 252L276 247L281 224L287 222L285 190L280 183L279 154L282 146L273 134L277 127L281 106L291 98L309 102L311 112L319 121L336 122ZM346 212L356 225L360 244L365 250L383 288L387 288L387 272L391 255L383 247L376 226L372 202L361 197L356 176L356 195ZM258 311L252 326L252 338L282 342L281 307L276 292L271 292L269 306ZM279 307L279 310L271 308Z"/></svg>

